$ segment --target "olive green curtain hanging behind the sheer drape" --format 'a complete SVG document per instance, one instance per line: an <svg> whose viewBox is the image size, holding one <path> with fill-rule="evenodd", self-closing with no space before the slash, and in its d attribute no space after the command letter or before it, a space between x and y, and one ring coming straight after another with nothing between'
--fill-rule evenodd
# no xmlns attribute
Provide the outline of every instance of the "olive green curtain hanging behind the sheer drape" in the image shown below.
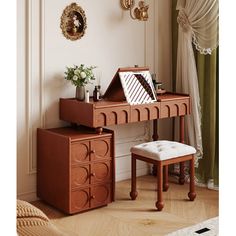
<svg viewBox="0 0 236 236"><path fill-rule="evenodd" d="M172 0L172 75L173 91L176 87L176 58L178 42L178 25L176 11L177 0ZM194 48L194 46L193 46ZM219 183L219 49L211 55L200 54L195 50L195 59L198 72L201 111L202 111L202 141L203 158L199 160L196 175L201 182L207 183L214 179Z"/></svg>

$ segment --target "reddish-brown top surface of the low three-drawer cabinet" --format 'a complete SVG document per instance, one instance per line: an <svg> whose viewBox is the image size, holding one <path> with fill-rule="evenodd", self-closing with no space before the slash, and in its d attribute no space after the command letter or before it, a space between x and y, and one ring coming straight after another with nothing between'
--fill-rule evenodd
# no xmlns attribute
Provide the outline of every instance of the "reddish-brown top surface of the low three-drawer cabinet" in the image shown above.
<svg viewBox="0 0 236 236"><path fill-rule="evenodd" d="M62 135L70 138L73 141L81 139L91 139L91 138L101 138L101 137L110 137L112 136L111 132L106 130L102 134L97 134L94 129L89 128L71 128L71 127L61 127L61 128L51 128L45 129L47 132L52 132L58 135Z"/></svg>

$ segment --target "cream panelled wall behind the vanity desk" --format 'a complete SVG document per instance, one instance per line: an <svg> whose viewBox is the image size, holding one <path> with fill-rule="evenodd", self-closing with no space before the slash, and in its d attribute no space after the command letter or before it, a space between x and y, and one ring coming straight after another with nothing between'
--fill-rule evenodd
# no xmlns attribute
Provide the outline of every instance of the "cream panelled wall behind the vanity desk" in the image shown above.
<svg viewBox="0 0 236 236"><path fill-rule="evenodd" d="M36 198L36 128L65 125L58 118L58 100L73 97L75 93L75 88L63 78L65 66L96 65L103 92L118 67L145 65L151 72L157 72L162 81L170 79L170 26L165 20L168 14L161 12L162 18L158 17L159 7L169 11L169 1L150 0L147 23L131 20L129 12L121 9L119 0L78 1L85 11L88 28L77 41L67 40L60 29L61 14L71 1L18 1L18 198L29 201ZM164 22L168 29L161 36L161 22L155 23L157 20ZM93 86L89 89L92 91ZM150 138L149 123L109 128L116 134L116 180L129 178L129 148ZM148 171L148 166L140 162L138 174Z"/></svg>

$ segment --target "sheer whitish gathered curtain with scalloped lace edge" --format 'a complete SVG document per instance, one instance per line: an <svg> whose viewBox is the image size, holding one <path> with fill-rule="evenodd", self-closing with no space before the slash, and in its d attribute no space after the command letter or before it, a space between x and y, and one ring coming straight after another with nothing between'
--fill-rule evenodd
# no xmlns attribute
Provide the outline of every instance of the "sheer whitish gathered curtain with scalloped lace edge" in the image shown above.
<svg viewBox="0 0 236 236"><path fill-rule="evenodd" d="M178 0L179 23L176 91L191 97L192 113L186 117L187 138L202 157L201 107L193 44L203 54L218 46L218 0Z"/></svg>

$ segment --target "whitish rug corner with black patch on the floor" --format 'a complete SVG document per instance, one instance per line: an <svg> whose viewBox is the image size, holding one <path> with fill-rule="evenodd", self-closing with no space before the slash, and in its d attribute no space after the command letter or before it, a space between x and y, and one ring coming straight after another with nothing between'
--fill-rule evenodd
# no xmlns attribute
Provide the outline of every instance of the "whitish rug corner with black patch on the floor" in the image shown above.
<svg viewBox="0 0 236 236"><path fill-rule="evenodd" d="M219 218L211 218L191 227L167 234L167 236L216 236L219 235Z"/></svg>

